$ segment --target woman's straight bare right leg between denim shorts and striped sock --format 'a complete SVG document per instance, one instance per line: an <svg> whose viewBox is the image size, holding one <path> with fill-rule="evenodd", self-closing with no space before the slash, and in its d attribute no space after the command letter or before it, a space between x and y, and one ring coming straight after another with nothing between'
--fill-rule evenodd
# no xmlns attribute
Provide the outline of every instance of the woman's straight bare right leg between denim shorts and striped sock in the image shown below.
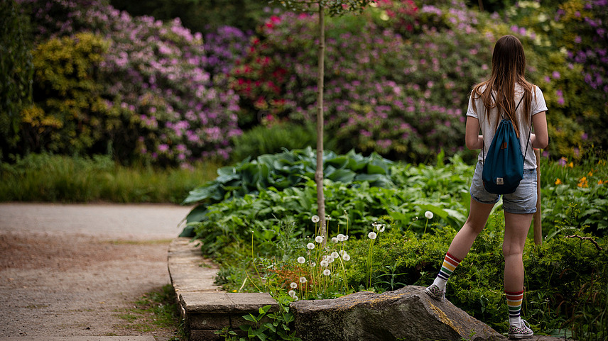
<svg viewBox="0 0 608 341"><path fill-rule="evenodd" d="M504 213L504 290L523 290L523 245L528 237L532 214Z"/></svg>

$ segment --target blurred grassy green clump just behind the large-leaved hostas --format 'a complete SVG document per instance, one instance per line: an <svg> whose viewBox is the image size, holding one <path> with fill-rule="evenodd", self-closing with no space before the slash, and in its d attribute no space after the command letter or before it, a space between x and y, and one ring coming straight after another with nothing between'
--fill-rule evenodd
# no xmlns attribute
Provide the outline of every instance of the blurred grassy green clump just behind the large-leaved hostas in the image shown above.
<svg viewBox="0 0 608 341"><path fill-rule="evenodd" d="M295 150L315 147L317 138L315 127L312 125L277 123L268 127L258 125L234 138L233 142L234 150L230 156L234 161L241 161L246 157L275 154L281 152L283 148ZM331 146L325 145L325 147L332 150Z"/></svg>

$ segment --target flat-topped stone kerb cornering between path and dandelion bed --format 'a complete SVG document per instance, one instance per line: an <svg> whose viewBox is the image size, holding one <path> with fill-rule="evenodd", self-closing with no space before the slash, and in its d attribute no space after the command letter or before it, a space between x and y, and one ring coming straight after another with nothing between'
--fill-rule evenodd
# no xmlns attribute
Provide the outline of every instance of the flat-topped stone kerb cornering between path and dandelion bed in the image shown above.
<svg viewBox="0 0 608 341"><path fill-rule="evenodd" d="M221 340L217 330L239 330L243 315L278 303L266 293L227 293L214 284L217 265L202 257L200 246L188 237L178 237L168 251L171 284L178 298L180 315L190 341Z"/></svg>

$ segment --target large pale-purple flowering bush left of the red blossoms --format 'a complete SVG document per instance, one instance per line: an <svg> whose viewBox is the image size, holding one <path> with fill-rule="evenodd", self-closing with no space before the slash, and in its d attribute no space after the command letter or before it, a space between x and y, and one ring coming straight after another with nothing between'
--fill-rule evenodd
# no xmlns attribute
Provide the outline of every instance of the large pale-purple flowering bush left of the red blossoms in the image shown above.
<svg viewBox="0 0 608 341"><path fill-rule="evenodd" d="M92 31L110 42L99 62L104 105L120 124L106 128L108 147L123 161L188 164L227 160L240 135L238 96L215 82L200 33L179 19L169 23L131 17L104 1L22 0L36 36L70 37ZM43 9L42 11L40 9ZM219 66L218 66L219 65ZM224 82L225 85L225 82Z"/></svg>

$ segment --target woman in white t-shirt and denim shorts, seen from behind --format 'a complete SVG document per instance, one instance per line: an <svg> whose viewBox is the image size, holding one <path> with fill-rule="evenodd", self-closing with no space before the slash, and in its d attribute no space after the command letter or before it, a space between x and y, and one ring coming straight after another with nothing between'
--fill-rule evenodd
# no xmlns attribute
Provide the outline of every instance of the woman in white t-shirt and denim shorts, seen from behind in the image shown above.
<svg viewBox="0 0 608 341"><path fill-rule="evenodd" d="M474 86L469 98L465 142L471 150L482 149L471 184L469 217L452 240L437 278L425 289L432 298L440 300L445 297L447 279L471 249L475 238L486 225L492 207L500 199L500 195L484 189L482 172L484 155L487 155L496 127L501 117L509 118L514 123L525 159L523 179L519 186L514 193L503 196L504 292L509 308L508 335L516 339L533 336L530 325L520 316L523 299L522 255L532 215L536 212L536 157L533 148L545 148L549 142L543 92L526 81L525 69L526 57L519 39L505 35L497 40L492 52L492 74L485 82ZM528 134L531 126L534 133ZM479 135L479 130L482 135ZM528 136L533 148L526 148Z"/></svg>

